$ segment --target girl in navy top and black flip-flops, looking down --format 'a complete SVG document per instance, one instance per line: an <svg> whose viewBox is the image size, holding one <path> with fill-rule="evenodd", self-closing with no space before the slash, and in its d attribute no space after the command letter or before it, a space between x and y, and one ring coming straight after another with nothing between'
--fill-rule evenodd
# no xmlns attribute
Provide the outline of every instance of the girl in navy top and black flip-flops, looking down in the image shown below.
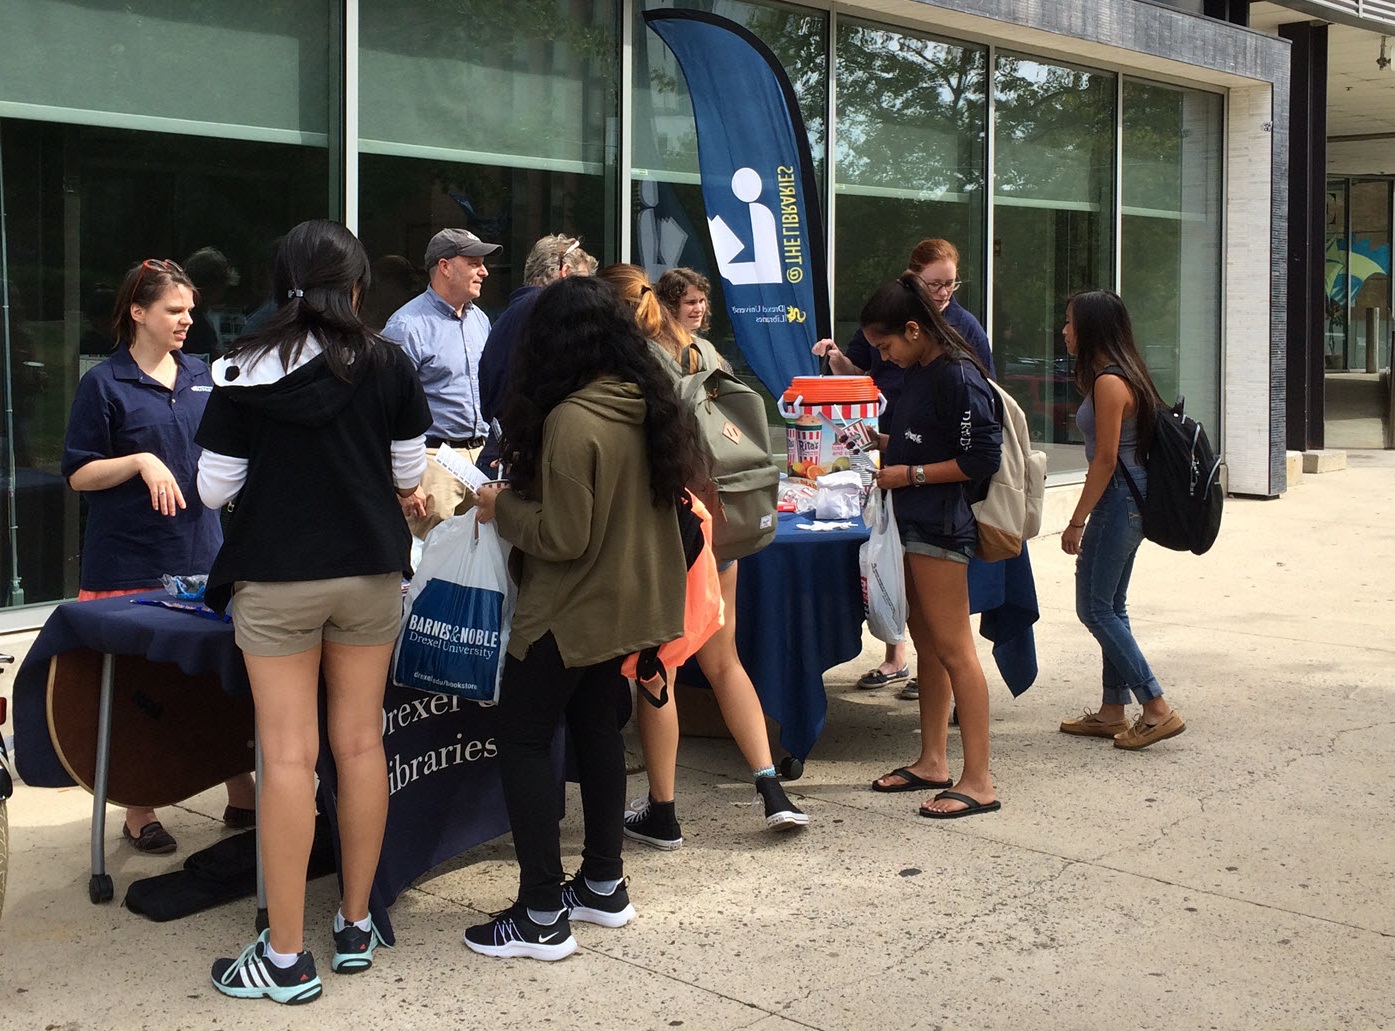
<svg viewBox="0 0 1395 1031"><path fill-rule="evenodd" d="M1003 441L993 388L914 273L872 294L861 324L880 356L905 370L877 486L891 491L905 547L907 625L921 685L921 755L872 787L943 788L921 805L929 819L993 812L1002 806L988 770L988 682L968 612L968 558L978 540L970 492L997 470ZM964 742L958 778L949 770L951 703Z"/></svg>

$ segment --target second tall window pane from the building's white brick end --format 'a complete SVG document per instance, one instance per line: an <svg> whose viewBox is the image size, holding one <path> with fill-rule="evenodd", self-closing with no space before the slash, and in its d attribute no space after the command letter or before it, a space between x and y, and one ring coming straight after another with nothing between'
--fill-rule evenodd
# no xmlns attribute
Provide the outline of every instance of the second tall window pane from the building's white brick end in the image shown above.
<svg viewBox="0 0 1395 1031"><path fill-rule="evenodd" d="M1060 336L1071 293L1113 283L1115 95L1103 71L1013 54L993 78L993 361L1053 472L1084 469Z"/></svg>

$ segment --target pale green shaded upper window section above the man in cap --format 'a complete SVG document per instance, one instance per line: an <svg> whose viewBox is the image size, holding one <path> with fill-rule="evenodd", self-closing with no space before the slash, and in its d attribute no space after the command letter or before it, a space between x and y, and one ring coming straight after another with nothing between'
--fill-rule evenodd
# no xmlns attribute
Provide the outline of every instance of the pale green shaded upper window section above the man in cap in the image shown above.
<svg viewBox="0 0 1395 1031"><path fill-rule="evenodd" d="M360 0L359 18L363 152L600 174L614 1Z"/></svg>

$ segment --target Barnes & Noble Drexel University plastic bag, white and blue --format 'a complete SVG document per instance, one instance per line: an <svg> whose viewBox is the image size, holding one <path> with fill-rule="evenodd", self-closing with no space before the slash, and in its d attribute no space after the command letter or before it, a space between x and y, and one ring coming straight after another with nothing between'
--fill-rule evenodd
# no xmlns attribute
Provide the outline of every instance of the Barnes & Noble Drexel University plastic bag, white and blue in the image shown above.
<svg viewBox="0 0 1395 1031"><path fill-rule="evenodd" d="M392 682L474 702L499 700L518 589L509 579L509 544L472 509L446 519L421 550Z"/></svg>

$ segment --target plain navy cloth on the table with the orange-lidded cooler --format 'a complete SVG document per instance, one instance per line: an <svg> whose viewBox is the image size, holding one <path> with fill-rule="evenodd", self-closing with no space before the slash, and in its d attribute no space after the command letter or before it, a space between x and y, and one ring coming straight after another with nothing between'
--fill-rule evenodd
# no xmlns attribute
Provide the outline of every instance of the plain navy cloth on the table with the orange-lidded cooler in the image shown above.
<svg viewBox="0 0 1395 1031"><path fill-rule="evenodd" d="M861 520L848 530L801 530L806 515L781 513L774 541L741 559L737 580L737 652L766 714L780 724L780 744L804 760L827 716L826 670L862 652ZM970 611L1013 695L1036 679L1036 585L1027 548L1004 562L972 559ZM696 674L696 675L693 675ZM696 663L684 679L700 681Z"/></svg>

